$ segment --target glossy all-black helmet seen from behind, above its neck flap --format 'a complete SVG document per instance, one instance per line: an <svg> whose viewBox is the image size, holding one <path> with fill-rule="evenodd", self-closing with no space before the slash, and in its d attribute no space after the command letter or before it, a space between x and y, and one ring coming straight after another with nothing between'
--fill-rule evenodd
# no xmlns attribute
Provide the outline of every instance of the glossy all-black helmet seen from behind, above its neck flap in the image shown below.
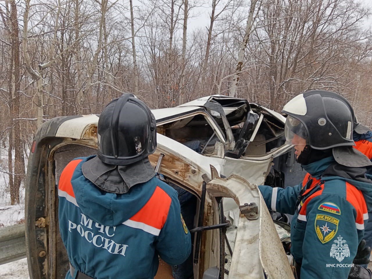
<svg viewBox="0 0 372 279"><path fill-rule="evenodd" d="M156 121L144 102L131 93L112 100L102 111L97 127L98 158L125 166L153 154Z"/></svg>

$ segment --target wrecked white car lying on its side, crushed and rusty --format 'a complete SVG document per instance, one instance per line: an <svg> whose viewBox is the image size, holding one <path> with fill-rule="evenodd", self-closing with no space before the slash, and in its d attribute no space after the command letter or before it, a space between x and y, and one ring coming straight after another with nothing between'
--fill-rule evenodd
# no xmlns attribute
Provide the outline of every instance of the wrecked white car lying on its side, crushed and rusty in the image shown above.
<svg viewBox="0 0 372 279"><path fill-rule="evenodd" d="M293 278L256 186L265 180L283 186L279 170L292 167L292 148L284 144L285 118L221 95L152 112L158 145L151 164L166 182L196 197L194 278ZM57 117L36 132L26 179L31 279L62 279L69 268L59 234L56 186L69 161L96 154L98 119Z"/></svg>

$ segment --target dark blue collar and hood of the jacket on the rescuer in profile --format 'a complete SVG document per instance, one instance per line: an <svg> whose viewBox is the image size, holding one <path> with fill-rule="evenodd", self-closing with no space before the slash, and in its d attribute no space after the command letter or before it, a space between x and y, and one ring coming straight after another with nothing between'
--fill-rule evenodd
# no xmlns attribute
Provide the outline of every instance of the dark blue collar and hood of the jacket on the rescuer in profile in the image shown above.
<svg viewBox="0 0 372 279"><path fill-rule="evenodd" d="M311 176L321 177L324 181L340 179L349 182L362 191L368 211L372 209L372 176L366 174L366 167L343 166L333 157L327 157L302 167Z"/></svg>

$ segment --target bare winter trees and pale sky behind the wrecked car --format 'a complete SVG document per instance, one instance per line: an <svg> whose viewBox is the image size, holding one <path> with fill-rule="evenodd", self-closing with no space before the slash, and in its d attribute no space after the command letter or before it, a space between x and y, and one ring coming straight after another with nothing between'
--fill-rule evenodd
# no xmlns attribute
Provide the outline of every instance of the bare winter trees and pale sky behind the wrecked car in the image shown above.
<svg viewBox="0 0 372 279"><path fill-rule="evenodd" d="M22 203L25 162L43 122L100 113L122 92L153 109L224 94L279 112L295 95L325 89L343 94L371 126L371 10L363 3L1 1L1 200Z"/></svg>

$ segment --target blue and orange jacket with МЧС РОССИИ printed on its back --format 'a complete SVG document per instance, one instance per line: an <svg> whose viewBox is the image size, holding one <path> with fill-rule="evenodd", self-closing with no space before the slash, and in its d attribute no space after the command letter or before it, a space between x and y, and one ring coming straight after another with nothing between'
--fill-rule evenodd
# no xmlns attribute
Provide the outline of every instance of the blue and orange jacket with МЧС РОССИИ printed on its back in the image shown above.
<svg viewBox="0 0 372 279"><path fill-rule="evenodd" d="M183 263L191 241L177 192L155 177L125 194L104 192L83 176L89 158L71 161L58 183L60 233L71 264L92 278L150 279L158 255Z"/></svg>

